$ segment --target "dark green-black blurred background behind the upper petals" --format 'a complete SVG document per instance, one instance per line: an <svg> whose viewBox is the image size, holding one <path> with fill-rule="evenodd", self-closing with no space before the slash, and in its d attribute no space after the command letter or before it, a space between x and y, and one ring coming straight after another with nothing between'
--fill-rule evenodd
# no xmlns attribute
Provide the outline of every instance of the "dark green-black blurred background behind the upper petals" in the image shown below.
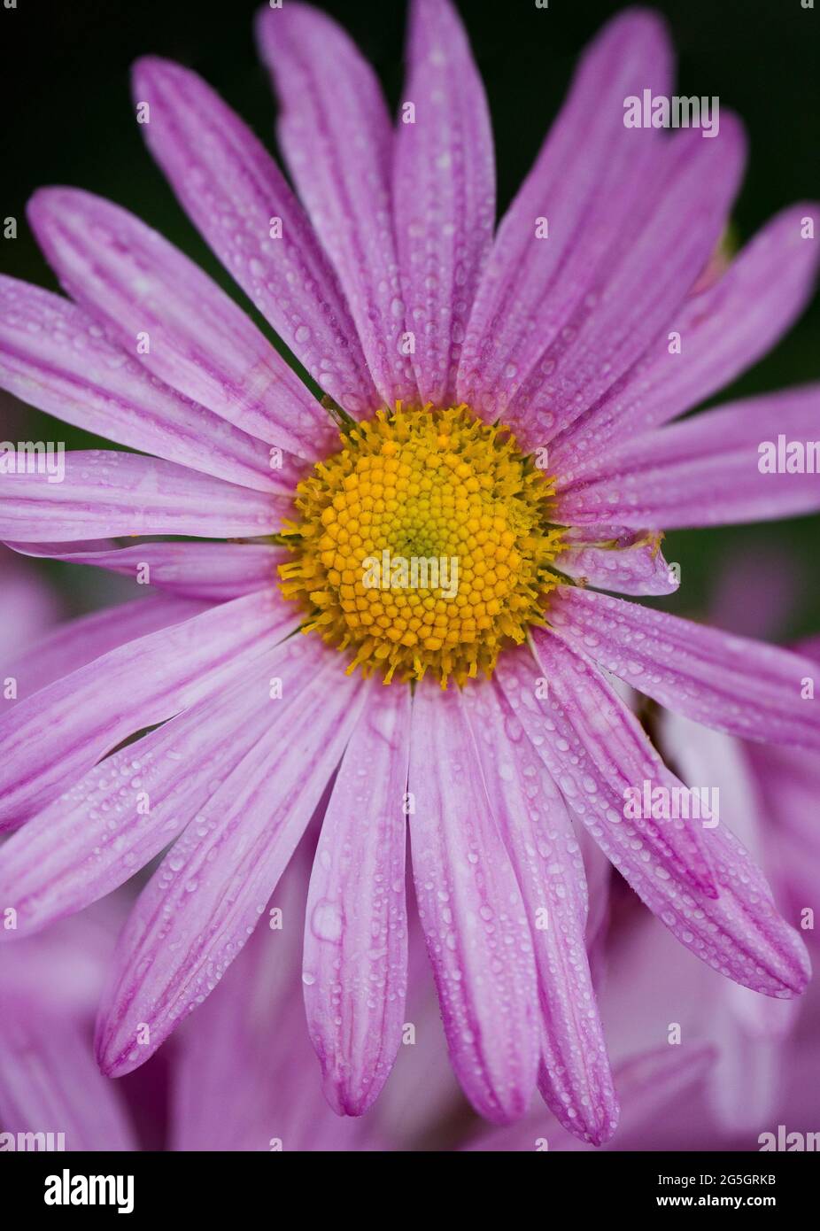
<svg viewBox="0 0 820 1231"><path fill-rule="evenodd" d="M288 0L284 0L287 4ZM750 135L750 164L734 215L744 243L782 206L820 196L820 0L662 0L650 5L671 26L682 94L719 95L740 113ZM376 64L392 103L401 86L403 0L325 0ZM25 203L43 183L70 183L108 196L140 214L249 307L166 187L145 151L128 90L128 68L145 53L195 68L272 143L273 102L251 36L259 2L245 0L17 0L0 6L0 215L21 220L15 241L0 240L0 270L43 286L55 282L25 222ZM492 112L502 211L527 172L555 116L585 43L624 5L606 0L460 0ZM254 314L255 315L255 314ZM255 319L259 318L255 316ZM261 324L261 321L260 321ZM267 329L266 329L267 331ZM270 331L267 331L270 332ZM820 302L766 359L718 400L820 379ZM48 427L31 412L30 437L91 443L86 433ZM0 433L2 435L2 433ZM96 442L95 442L96 443ZM819 480L820 481L820 480ZM763 527L677 532L666 555L682 565L683 585L664 606L703 609L734 553L772 550L795 558L802 593L784 635L820 629L814 585L818 519ZM87 571L81 570L85 579ZM71 604L89 601L79 570L57 566ZM760 586L770 585L761 564ZM750 596L754 601L754 596Z"/></svg>

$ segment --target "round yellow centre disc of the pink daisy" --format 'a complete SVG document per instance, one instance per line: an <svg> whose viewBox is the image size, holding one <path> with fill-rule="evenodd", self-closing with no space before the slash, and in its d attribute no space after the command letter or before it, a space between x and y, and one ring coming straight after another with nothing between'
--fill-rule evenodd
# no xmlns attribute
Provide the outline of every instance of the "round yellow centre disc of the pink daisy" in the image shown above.
<svg viewBox="0 0 820 1231"><path fill-rule="evenodd" d="M282 591L348 650L348 672L442 687L488 676L499 651L541 624L561 550L553 484L507 427L467 406L379 411L295 494Z"/></svg>

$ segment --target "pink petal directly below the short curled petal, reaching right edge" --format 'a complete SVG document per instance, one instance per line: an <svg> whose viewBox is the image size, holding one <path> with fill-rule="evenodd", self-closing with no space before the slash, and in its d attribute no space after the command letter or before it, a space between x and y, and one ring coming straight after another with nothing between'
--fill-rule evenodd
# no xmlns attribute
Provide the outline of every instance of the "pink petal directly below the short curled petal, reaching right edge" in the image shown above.
<svg viewBox="0 0 820 1231"><path fill-rule="evenodd" d="M820 748L820 715L803 696L808 659L569 586L548 619L561 641L667 709L742 739Z"/></svg>

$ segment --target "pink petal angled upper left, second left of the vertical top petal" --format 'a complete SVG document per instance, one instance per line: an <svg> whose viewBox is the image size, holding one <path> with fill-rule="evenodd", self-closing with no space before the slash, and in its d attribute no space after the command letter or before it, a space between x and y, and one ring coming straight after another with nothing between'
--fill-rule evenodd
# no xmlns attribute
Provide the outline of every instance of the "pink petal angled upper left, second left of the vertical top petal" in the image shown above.
<svg viewBox="0 0 820 1231"><path fill-rule="evenodd" d="M196 73L170 60L138 60L133 95L151 108L142 132L183 209L313 379L361 419L378 398L356 327L262 143Z"/></svg>

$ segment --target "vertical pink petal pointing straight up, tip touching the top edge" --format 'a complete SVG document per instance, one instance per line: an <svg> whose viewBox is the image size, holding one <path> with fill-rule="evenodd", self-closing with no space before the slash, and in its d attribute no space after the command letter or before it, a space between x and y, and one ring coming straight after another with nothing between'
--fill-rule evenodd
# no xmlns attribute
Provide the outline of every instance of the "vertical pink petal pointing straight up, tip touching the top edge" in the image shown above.
<svg viewBox="0 0 820 1231"><path fill-rule="evenodd" d="M412 364L424 403L456 404L456 371L495 224L484 85L449 0L414 0L393 198ZM406 107L415 108L405 122Z"/></svg>

